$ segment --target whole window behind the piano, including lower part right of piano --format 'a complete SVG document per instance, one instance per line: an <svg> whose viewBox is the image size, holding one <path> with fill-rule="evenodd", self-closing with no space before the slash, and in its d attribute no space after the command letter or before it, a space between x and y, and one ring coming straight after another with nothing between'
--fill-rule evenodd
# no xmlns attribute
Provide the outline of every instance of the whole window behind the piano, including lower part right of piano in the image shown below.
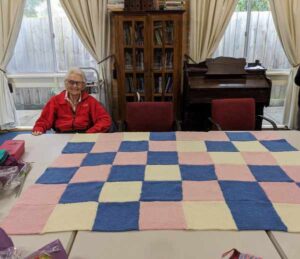
<svg viewBox="0 0 300 259"><path fill-rule="evenodd" d="M214 57L245 57L247 62L260 60L270 70L290 69L278 38L268 0L239 0ZM283 104L288 73L274 74L270 107L264 113L278 125L283 120ZM263 121L264 126L268 125Z"/></svg>

